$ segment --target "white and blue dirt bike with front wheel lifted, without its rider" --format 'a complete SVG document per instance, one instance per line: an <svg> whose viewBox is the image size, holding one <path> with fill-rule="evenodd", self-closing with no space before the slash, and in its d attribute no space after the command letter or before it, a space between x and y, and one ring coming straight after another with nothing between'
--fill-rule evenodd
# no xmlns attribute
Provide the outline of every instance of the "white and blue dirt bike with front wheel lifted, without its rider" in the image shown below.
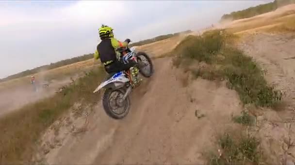
<svg viewBox="0 0 295 165"><path fill-rule="evenodd" d="M139 73L144 77L149 78L153 74L153 64L146 53L136 53L134 47L122 48L118 52L121 54L123 63L126 64L130 60L134 60L137 63L135 67L139 69ZM149 68L146 69L146 67ZM102 105L106 114L114 119L124 118L130 111L129 94L134 88L131 82L130 70L109 75L106 81L100 83L93 93L102 88L105 89L102 96Z"/></svg>

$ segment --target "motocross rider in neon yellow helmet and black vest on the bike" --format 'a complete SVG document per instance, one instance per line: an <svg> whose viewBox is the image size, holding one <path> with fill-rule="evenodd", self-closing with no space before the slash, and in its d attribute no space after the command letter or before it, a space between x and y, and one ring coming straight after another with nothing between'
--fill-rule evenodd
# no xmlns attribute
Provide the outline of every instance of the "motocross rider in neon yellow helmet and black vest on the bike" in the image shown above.
<svg viewBox="0 0 295 165"><path fill-rule="evenodd" d="M126 47L130 39L126 39L124 42L117 41L114 38L113 30L113 28L105 25L98 29L101 41L97 46L94 58L100 59L101 63L104 64L106 72L109 74L130 69L132 85L137 86L142 80L138 80L138 69L134 67L136 62L130 60L128 64L124 64L122 59L120 59L120 54L116 52L118 48Z"/></svg>

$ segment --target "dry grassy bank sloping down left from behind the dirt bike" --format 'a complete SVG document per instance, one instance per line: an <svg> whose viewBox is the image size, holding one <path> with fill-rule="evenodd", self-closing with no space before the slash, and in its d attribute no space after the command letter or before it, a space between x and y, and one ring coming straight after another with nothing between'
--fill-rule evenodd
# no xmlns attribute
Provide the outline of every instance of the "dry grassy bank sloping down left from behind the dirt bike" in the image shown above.
<svg viewBox="0 0 295 165"><path fill-rule="evenodd" d="M29 104L0 118L1 164L27 164L41 133L77 101L92 105L100 98L92 92L104 77L96 69L70 84L62 93Z"/></svg>

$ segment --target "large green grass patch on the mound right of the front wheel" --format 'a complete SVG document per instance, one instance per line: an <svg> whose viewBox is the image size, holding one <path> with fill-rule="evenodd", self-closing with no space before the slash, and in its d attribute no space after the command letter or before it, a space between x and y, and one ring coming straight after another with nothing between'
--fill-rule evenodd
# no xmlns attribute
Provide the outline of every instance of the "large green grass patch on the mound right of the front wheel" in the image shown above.
<svg viewBox="0 0 295 165"><path fill-rule="evenodd" d="M177 54L173 64L179 67L192 65L186 61L205 62L210 67L191 69L196 77L226 79L228 87L237 91L244 104L274 106L281 100L282 93L267 85L264 72L250 56L232 46L235 39L236 36L222 29L208 31L201 36L188 36L173 51Z"/></svg>

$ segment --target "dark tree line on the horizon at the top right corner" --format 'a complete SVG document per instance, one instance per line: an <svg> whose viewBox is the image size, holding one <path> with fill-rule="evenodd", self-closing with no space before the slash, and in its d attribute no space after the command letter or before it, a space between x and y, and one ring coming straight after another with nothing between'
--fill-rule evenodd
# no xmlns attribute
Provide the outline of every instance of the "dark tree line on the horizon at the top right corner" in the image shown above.
<svg viewBox="0 0 295 165"><path fill-rule="evenodd" d="M274 11L280 6L284 6L291 3L295 3L295 0L275 0L270 3L265 3L255 7L247 8L245 10L232 12L230 14L224 14L221 17L220 22L224 20L237 20L237 19L243 19L243 18L250 18L255 15Z"/></svg>

